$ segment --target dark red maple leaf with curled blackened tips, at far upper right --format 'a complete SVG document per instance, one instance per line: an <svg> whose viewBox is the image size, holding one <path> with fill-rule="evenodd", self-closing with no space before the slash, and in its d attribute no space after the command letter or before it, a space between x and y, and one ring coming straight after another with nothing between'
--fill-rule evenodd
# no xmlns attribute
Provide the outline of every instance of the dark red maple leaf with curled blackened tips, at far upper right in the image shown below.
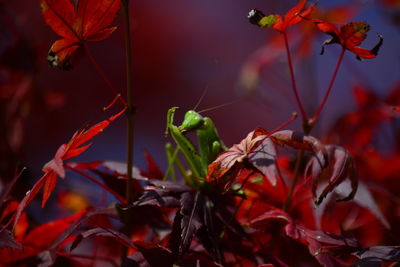
<svg viewBox="0 0 400 267"><path fill-rule="evenodd" d="M321 54L324 53L324 46L329 44L340 44L344 49L349 50L356 54L358 60L361 58L375 58L378 55L378 51L383 44L383 37L378 35L379 42L371 49L365 49L358 47L365 38L370 26L366 22L350 22L344 24L338 29L335 25L330 22L323 20L311 20L315 23L317 28L332 36L332 39L325 41L322 45Z"/></svg>

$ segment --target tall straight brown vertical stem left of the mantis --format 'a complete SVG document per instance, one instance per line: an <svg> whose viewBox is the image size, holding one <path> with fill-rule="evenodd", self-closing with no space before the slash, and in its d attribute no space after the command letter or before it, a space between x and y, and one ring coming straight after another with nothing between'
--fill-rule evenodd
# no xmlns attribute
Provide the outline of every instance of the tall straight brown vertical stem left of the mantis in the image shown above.
<svg viewBox="0 0 400 267"><path fill-rule="evenodd" d="M126 183L126 200L128 204L132 202L132 167L133 167L133 140L134 140L134 117L135 107L133 106L133 68L132 68L132 40L131 40L131 27L129 19L129 0L122 1L122 13L125 24L125 56L126 56L126 91L128 98L128 107L126 110L127 118L127 183Z"/></svg>

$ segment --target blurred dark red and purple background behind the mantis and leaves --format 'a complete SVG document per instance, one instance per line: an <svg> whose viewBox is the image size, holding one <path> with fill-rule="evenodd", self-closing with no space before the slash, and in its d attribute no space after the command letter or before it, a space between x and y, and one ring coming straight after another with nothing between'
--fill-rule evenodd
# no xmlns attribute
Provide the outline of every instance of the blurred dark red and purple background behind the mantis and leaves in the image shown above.
<svg viewBox="0 0 400 267"><path fill-rule="evenodd" d="M363 47L371 48L377 41L377 33L385 40L376 59L359 62L354 55L345 55L323 117L313 132L315 136L322 138L339 116L354 108L351 91L354 84L362 83L385 96L398 81L398 10L394 8L396 4L388 5L394 1L384 2L318 2L321 10L337 6L351 8L348 14L351 20L371 24ZM297 110L285 54L276 56L274 63L266 66L256 86L249 89L240 80L251 55L279 35L251 25L248 12L258 8L266 14L284 14L295 3L294 0L132 0L137 106L135 165L145 166L143 151L147 150L162 169L166 167L164 144L169 139L164 137L164 129L168 108L180 107L176 117L179 122L184 111L192 109L205 90L197 110L231 103L204 113L212 117L227 146L238 143L257 126L275 128ZM61 144L85 123L99 121L101 108L114 95L85 57L70 71L47 64L47 51L58 37L45 24L38 1L4 0L0 2L0 13L1 178L10 179L15 166L26 166L27 175L20 182L28 189ZM113 85L125 95L121 17L115 25L119 29L109 39L90 43L89 47ZM292 34L295 36L296 32ZM293 39L291 43L293 47L302 43L311 46L307 57L296 59L295 66L301 97L309 114L318 105L339 54L340 48L333 45L327 47L324 55L319 55L320 44L326 38L318 34L313 39ZM270 53L277 52L271 49ZM263 78L270 74L273 82ZM299 126L298 120L290 127L299 129ZM123 161L125 132L125 120L120 118L96 137L92 147L77 160ZM61 181L57 190L72 187L95 198L99 189L81 180ZM23 194L24 187L21 188L20 194Z"/></svg>

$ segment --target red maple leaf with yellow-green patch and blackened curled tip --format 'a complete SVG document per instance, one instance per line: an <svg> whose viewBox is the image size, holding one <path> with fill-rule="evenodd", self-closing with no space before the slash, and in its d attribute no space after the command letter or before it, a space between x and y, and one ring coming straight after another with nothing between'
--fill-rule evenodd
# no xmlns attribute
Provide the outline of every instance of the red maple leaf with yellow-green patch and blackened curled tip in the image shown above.
<svg viewBox="0 0 400 267"><path fill-rule="evenodd" d="M272 28L279 32L284 32L289 26L295 25L303 20L312 11L312 7L304 8L306 0L300 0L297 5L290 9L285 17L272 14L265 16L260 10L252 9L249 12L248 19L252 24L261 28Z"/></svg>

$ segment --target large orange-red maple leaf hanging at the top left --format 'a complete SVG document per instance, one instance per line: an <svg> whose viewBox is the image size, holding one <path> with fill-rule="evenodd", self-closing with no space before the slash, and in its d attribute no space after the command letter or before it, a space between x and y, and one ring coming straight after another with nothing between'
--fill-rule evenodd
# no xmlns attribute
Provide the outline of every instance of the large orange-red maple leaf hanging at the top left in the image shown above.
<svg viewBox="0 0 400 267"><path fill-rule="evenodd" d="M53 67L70 69L85 42L102 41L115 31L110 26L121 0L40 0L46 23L62 39L50 48L47 60Z"/></svg>

